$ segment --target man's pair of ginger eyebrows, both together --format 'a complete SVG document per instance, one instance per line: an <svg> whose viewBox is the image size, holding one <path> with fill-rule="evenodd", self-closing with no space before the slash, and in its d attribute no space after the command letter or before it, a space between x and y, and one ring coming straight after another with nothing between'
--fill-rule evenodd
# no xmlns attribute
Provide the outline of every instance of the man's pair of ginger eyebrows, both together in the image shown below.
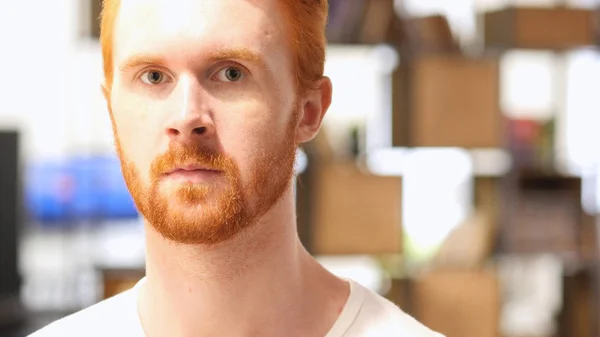
<svg viewBox="0 0 600 337"><path fill-rule="evenodd" d="M267 68L264 57L248 48L225 48L209 52L204 56L210 62L225 60L241 60L255 63L263 68ZM131 69L148 65L165 65L166 59L159 55L134 55L121 64L121 72L127 72Z"/></svg>

